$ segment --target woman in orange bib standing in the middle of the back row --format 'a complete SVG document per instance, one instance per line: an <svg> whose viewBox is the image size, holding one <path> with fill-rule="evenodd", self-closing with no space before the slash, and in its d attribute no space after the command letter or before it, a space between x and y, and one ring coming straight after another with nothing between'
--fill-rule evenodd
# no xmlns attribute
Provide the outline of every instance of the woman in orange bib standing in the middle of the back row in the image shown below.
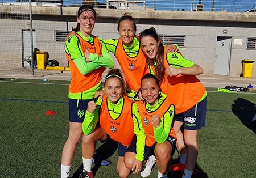
<svg viewBox="0 0 256 178"><path fill-rule="evenodd" d="M141 78L148 72L146 56L140 48L139 37L136 35L137 26L131 14L125 13L118 20L118 39L104 40L109 52L112 52L125 75L127 84L127 94L133 98L141 87ZM168 52L176 52L177 45L168 45Z"/></svg>

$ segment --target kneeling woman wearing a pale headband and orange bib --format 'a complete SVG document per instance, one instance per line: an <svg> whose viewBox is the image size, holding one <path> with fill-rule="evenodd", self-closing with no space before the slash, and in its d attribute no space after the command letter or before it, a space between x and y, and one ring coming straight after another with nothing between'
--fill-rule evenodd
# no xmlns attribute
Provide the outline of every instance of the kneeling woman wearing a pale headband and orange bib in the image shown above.
<svg viewBox="0 0 256 178"><path fill-rule="evenodd" d="M80 177L93 177L90 168L96 141L105 141L108 138L118 142L117 171L120 177L128 177L131 172L131 169L125 167L123 156L132 142L136 142L137 151L133 171L138 173L142 168L146 134L137 105L125 95L124 80L119 69L112 69L106 75L104 90L102 99L88 103L82 123L82 130L87 135L82 141L86 148L82 149L82 156L88 160L88 165L85 166L88 169Z"/></svg>

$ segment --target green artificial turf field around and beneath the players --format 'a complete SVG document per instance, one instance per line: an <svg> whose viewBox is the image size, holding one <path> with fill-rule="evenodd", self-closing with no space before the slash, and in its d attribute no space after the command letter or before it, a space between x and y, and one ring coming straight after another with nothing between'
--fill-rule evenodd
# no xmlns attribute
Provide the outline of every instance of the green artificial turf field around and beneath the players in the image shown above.
<svg viewBox="0 0 256 178"><path fill-rule="evenodd" d="M60 177L61 151L68 137L67 81L0 80L0 177ZM256 92L218 92L207 88L207 126L199 131L199 158L193 177L256 177ZM48 110L55 115L45 115ZM81 171L77 147L71 177ZM94 166L95 177L118 177L113 142L98 142L97 155L112 162ZM177 152L174 155L177 162ZM157 177L157 167L150 177ZM141 177L131 175L130 177ZM181 177L170 173L169 177Z"/></svg>

